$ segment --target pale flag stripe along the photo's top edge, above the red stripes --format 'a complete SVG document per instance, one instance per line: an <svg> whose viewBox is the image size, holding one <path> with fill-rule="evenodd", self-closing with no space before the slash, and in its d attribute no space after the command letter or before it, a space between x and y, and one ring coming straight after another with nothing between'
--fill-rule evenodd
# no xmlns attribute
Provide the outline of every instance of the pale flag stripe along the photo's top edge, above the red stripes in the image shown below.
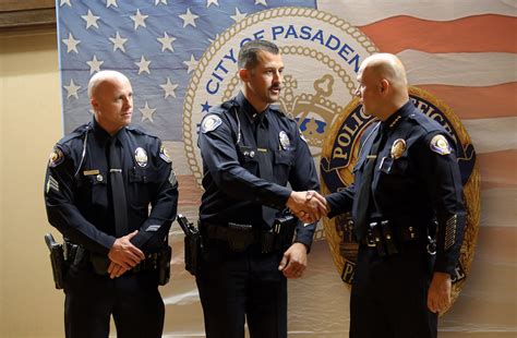
<svg viewBox="0 0 517 338"><path fill-rule="evenodd" d="M318 0L317 9L333 13L356 26L364 26L397 15L424 20L450 21L472 15L500 14L517 16L515 1L505 0L434 0L434 1L376 1L350 0L336 4L335 0Z"/></svg>

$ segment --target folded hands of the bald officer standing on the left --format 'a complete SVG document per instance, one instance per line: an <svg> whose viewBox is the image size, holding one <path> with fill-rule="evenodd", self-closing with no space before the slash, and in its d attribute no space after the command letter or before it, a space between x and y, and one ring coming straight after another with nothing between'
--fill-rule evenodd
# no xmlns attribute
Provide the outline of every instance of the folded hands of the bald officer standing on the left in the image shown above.
<svg viewBox="0 0 517 338"><path fill-rule="evenodd" d="M109 250L108 257L111 263L108 273L111 278L121 276L145 258L144 253L130 242L136 233L139 231L134 230L130 234L118 238Z"/></svg>

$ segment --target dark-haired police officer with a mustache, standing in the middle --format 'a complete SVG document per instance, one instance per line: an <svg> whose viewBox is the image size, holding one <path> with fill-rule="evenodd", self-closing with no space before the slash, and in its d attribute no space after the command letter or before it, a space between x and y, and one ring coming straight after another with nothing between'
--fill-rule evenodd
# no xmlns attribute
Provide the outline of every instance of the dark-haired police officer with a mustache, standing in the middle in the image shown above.
<svg viewBox="0 0 517 338"><path fill-rule="evenodd" d="M244 337L244 317L251 337L286 337L286 277L305 269L315 224L294 218L293 241L289 225L276 233L273 224L286 206L310 221L326 209L302 192L317 190L318 180L296 121L270 105L282 83L277 46L247 43L238 67L241 92L201 123L204 252L196 282L208 338Z"/></svg>

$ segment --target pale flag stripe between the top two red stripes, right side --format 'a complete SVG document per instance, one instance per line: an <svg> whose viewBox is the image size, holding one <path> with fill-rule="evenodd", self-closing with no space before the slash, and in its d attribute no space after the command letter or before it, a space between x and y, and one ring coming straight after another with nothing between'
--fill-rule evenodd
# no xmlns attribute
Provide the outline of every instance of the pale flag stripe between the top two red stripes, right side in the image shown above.
<svg viewBox="0 0 517 338"><path fill-rule="evenodd" d="M492 86L516 82L517 55L507 52L429 53L405 50L397 56L412 85ZM510 71L514 70L514 71Z"/></svg>

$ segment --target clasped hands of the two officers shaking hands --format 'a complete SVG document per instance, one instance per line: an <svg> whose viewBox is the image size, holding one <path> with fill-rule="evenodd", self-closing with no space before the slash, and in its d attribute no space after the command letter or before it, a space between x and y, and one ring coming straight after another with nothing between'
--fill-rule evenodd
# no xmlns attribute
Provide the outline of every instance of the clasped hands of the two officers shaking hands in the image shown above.
<svg viewBox="0 0 517 338"><path fill-rule="evenodd" d="M313 190L291 192L286 205L305 224L315 222L328 214L325 197Z"/></svg>

